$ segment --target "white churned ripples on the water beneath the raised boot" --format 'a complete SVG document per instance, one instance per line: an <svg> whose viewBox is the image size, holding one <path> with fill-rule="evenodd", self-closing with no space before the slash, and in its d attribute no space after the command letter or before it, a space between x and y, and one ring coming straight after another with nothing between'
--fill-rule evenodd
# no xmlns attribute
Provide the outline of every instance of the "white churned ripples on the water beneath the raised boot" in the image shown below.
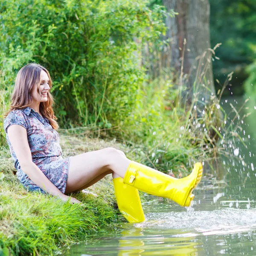
<svg viewBox="0 0 256 256"><path fill-rule="evenodd" d="M256 228L256 209L217 209L214 211L154 212L136 227L172 229L186 232L244 232ZM207 233L206 233L207 234Z"/></svg>

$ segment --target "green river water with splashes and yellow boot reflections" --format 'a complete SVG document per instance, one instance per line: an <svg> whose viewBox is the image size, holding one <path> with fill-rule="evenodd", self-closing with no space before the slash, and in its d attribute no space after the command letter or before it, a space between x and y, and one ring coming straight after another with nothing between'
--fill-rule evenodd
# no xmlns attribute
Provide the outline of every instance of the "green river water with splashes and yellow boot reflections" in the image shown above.
<svg viewBox="0 0 256 256"><path fill-rule="evenodd" d="M237 108L243 99L229 99ZM236 103L237 102L237 103ZM256 110L241 124L240 163L221 159L212 175L206 175L194 190L192 207L183 208L169 199L149 195L143 204L146 220L125 223L115 233L94 234L70 248L67 255L256 255ZM243 114L241 116L243 116ZM236 154L236 152L235 152ZM242 164L242 160L247 166ZM207 168L207 167L205 167ZM255 199L255 201L254 201Z"/></svg>

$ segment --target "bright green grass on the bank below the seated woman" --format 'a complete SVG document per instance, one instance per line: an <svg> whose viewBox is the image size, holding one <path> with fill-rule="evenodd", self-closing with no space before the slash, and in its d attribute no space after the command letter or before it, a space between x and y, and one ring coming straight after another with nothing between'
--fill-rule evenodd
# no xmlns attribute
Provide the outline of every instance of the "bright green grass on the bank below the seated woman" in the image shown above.
<svg viewBox="0 0 256 256"><path fill-rule="evenodd" d="M116 221L115 209L101 197L79 195L83 205L78 205L12 188L13 183L0 183L0 240L14 255L49 255Z"/></svg>

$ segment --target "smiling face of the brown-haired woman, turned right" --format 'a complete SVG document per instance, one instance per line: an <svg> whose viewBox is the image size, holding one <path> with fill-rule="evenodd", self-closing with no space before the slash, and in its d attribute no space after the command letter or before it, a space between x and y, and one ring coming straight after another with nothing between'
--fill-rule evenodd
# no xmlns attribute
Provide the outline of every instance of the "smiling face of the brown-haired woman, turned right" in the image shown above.
<svg viewBox="0 0 256 256"><path fill-rule="evenodd" d="M42 95L37 92L37 85L35 84L32 89L32 97L36 102L47 102L47 93L49 90L49 77L44 70L41 70L41 84L39 86L39 91Z"/></svg>

